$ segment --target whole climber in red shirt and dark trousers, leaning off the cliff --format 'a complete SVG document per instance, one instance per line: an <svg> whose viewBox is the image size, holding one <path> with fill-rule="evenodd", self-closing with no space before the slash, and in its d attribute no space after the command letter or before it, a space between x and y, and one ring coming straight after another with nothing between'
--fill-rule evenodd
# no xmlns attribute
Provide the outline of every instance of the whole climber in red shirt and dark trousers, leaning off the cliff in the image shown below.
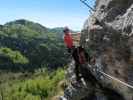
<svg viewBox="0 0 133 100"><path fill-rule="evenodd" d="M75 61L75 74L76 74L76 80L80 80L80 66L82 64L85 64L88 61L88 54L85 52L84 48L82 46L75 46L74 40L72 37L72 34L69 30L69 28L65 27L64 30L64 43L66 47L68 48L68 52L71 53L74 61ZM80 35L80 34L78 34Z"/></svg>

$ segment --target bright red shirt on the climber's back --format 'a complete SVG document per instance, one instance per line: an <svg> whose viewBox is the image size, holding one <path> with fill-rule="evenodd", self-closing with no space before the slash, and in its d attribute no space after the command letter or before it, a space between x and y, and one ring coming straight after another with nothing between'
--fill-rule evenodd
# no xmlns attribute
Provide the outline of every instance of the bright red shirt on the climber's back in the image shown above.
<svg viewBox="0 0 133 100"><path fill-rule="evenodd" d="M73 39L70 33L65 34L64 36L64 42L67 46L67 48L72 48L73 47Z"/></svg>

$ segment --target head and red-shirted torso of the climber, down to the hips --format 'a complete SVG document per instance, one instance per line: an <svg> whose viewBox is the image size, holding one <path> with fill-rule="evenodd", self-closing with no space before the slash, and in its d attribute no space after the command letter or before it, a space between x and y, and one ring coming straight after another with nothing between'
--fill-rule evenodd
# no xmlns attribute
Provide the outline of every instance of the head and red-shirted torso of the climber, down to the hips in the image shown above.
<svg viewBox="0 0 133 100"><path fill-rule="evenodd" d="M71 53L72 49L74 47L71 32L70 32L69 28L67 28L67 27L64 28L63 32L65 33L64 43L65 43L66 47L68 48L68 52Z"/></svg>

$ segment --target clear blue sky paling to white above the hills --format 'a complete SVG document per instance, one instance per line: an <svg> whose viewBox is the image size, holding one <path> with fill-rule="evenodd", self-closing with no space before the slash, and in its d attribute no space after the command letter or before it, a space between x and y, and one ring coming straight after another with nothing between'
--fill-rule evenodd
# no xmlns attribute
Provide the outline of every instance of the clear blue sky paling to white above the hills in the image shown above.
<svg viewBox="0 0 133 100"><path fill-rule="evenodd" d="M89 9L80 0L0 0L0 24L26 19L48 28L81 30L88 16Z"/></svg>

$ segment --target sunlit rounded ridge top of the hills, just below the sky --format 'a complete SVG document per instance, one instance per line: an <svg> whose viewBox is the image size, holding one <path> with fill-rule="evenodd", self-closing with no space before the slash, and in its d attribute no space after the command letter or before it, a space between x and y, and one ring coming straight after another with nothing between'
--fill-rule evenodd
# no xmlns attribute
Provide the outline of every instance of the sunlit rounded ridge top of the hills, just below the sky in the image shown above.
<svg viewBox="0 0 133 100"><path fill-rule="evenodd" d="M8 31L6 30L8 29ZM12 32L13 31L13 32ZM0 25L0 32L6 33L6 35L14 35L17 32L20 33L33 33L31 37L42 37L44 33L56 33L63 35L63 27L58 28L47 28L39 23L34 23L25 19L19 19L15 21L8 22L4 25ZM23 34L24 35L24 34Z"/></svg>

